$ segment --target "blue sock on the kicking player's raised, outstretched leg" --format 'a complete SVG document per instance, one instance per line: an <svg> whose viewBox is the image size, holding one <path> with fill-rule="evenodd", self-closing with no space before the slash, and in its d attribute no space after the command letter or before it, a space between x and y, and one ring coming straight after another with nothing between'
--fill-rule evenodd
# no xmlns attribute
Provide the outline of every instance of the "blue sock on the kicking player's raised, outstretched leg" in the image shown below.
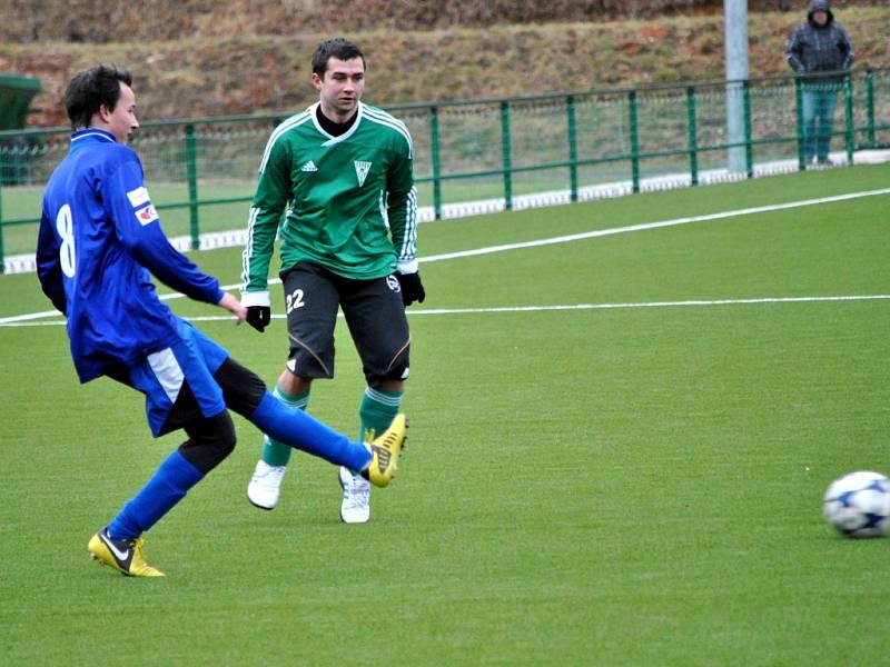
<svg viewBox="0 0 890 667"><path fill-rule="evenodd" d="M363 445L353 442L303 410L286 406L269 391L248 419L270 438L332 464L364 470L370 462L370 452Z"/></svg>

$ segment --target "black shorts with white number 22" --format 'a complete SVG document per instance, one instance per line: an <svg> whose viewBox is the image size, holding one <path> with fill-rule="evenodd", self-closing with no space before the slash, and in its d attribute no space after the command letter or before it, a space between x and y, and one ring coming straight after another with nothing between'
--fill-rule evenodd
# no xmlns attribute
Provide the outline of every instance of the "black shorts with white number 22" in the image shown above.
<svg viewBox="0 0 890 667"><path fill-rule="evenodd" d="M308 261L281 275L290 354L287 367L304 378L334 377L337 308L362 359L370 387L408 377L411 335L395 276L344 278Z"/></svg>

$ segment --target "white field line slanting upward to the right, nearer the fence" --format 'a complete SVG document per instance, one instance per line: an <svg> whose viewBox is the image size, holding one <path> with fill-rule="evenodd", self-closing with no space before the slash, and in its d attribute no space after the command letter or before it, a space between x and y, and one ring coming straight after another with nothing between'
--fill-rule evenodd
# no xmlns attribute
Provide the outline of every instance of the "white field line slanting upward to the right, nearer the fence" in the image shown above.
<svg viewBox="0 0 890 667"><path fill-rule="evenodd" d="M617 233L631 233L634 231L647 231L650 229L661 229L664 227L676 227L680 225L690 225L693 222L709 222L714 220L726 220L730 218L738 218L740 216L751 216L755 213L764 213L770 211L780 211L780 210L788 210L788 209L795 209L795 208L803 208L809 206L819 206L823 203L833 203L837 201L848 201L850 199L862 199L866 197L878 197L881 195L890 195L890 188L881 188L879 190L866 190L861 192L849 192L847 195L835 195L832 197L820 197L818 199L802 199L799 201L789 201L785 203L772 203L767 206L758 206L744 209L735 209L731 211L722 211L716 213L706 213L702 216L690 216L685 218L674 218L672 220L661 220L659 222L644 222L641 225L631 225L626 227L613 227L610 229L597 229L594 231L585 231L582 233L573 233L567 236L560 236L560 237L552 237L548 239L538 239L535 241L525 241L522 243L505 243L502 246L488 246L486 248L476 248L473 250L459 250L457 252L445 252L442 255L433 255L429 257L422 257L418 259L419 262L431 262L431 261L442 261L445 259L459 259L463 257L476 257L479 255L491 255L493 252L504 252L507 250L518 250L523 248L534 248L538 246L552 246L554 243L566 243L571 241L580 241L585 239L593 239L597 237L604 236L612 236ZM278 278L273 278L269 280L269 285L277 285L280 280ZM235 285L224 285L222 289L230 290L230 289L238 289L240 283ZM161 295L160 298L162 300L170 300L170 299L181 299L184 295L179 292L171 292ZM419 313L421 311L416 310L414 312ZM14 322L22 322L28 320L34 319L43 319L48 317L55 317L58 312L56 310L44 310L40 312L31 312L27 315L20 316L12 316L12 317L4 317L0 318L0 326L10 325ZM221 319L226 319L222 317ZM200 320L199 320L200 321Z"/></svg>

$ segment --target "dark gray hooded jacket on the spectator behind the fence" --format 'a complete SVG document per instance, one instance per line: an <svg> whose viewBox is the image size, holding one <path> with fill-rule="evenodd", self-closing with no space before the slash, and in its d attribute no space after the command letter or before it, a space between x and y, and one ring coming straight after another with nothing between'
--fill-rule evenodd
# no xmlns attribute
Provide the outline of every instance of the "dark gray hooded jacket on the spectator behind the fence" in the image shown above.
<svg viewBox="0 0 890 667"><path fill-rule="evenodd" d="M818 26L813 13L824 11L828 21ZM791 32L785 58L798 73L831 72L849 70L853 62L853 44L850 36L834 22L828 0L812 0L807 10L807 21ZM842 81L842 77L820 77L820 81Z"/></svg>

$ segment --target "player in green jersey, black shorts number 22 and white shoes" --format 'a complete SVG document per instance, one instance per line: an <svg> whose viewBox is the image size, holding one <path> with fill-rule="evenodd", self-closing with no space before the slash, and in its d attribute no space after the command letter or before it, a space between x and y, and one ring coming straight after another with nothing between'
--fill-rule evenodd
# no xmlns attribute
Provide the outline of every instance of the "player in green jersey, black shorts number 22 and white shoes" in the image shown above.
<svg viewBox="0 0 890 667"><path fill-rule="evenodd" d="M360 101L365 57L342 38L313 53L319 101L273 131L244 250L241 303L263 331L271 317L269 261L280 238L280 278L289 356L275 395L305 409L312 381L334 376L334 327L343 310L367 387L360 438L382 434L398 412L408 377L411 337L405 307L423 301L417 272L417 199L413 148L405 125ZM268 436L248 485L248 499L273 509L290 448ZM369 518L369 486L340 468L340 518Z"/></svg>

